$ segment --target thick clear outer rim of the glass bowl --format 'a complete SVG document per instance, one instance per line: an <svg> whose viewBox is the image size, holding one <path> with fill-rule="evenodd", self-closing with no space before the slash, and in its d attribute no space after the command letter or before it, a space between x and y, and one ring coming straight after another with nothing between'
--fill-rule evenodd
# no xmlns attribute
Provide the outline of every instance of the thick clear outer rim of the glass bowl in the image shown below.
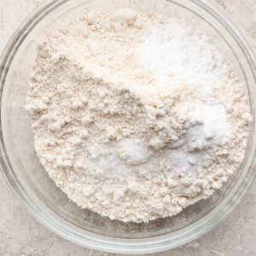
<svg viewBox="0 0 256 256"><path fill-rule="evenodd" d="M228 20L220 10L215 7L212 3L204 0L166 0L167 2L176 3L183 8L186 8L186 4L191 4L193 8L198 9L195 13L196 15L203 15L207 13L211 15L212 18L218 20L224 29L230 33L230 36L236 40L236 43L241 48L243 54L247 59L247 63L251 68L253 74L253 81L256 84L256 61L253 53L253 49L247 43L247 39L244 38L241 32L238 31L236 26L234 26L230 20ZM2 130L2 104L3 104L3 88L5 84L5 79L9 72L9 67L11 62L15 57L15 53L20 47L20 44L26 39L29 32L32 31L34 26L44 19L49 13L54 9L60 7L64 3L72 2L72 0L47 0L38 9L35 9L31 15L29 15L26 20L24 20L21 25L17 28L12 38L10 38L9 43L3 50L3 54L0 58L0 164L3 177L9 184L9 187L15 192L15 195L20 198L20 201L26 205L26 208L32 215L37 218L42 224L52 230L57 235L79 244L83 247L88 247L91 249L101 250L108 253L156 253L171 249L174 247L182 246L183 244L193 241L196 238L206 234L209 230L216 227L221 220L223 220L237 205L243 195L246 194L247 189L253 182L253 177L255 176L255 163L256 157L254 157L251 166L247 172L247 175L241 181L239 186L230 189L229 195L232 194L232 198L224 198L218 204L218 209L214 208L211 212L207 212L205 216L195 221L195 223L189 224L189 229L183 231L180 235L170 236L163 235L159 236L156 241L143 241L143 239L111 239L108 236L98 236L91 232L87 234L82 234L78 230L73 230L72 227L67 226L61 221L57 221L53 216L45 212L42 207L33 201L32 197L26 193L26 189L21 185L17 177L15 176L15 171L12 168L9 156L7 154L4 141L3 141L3 130ZM187 8L186 8L187 9ZM189 9L190 11L192 10ZM254 156L255 156L254 152ZM232 192L232 193L231 193ZM211 213L211 214L210 214ZM210 216L211 215L211 216ZM184 228L183 228L184 229Z"/></svg>

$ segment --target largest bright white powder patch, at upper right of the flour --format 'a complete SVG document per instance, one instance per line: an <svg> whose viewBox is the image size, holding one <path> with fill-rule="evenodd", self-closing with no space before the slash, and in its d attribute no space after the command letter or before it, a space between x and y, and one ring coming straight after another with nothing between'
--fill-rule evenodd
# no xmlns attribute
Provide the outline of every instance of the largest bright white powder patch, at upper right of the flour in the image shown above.
<svg viewBox="0 0 256 256"><path fill-rule="evenodd" d="M174 19L148 30L141 45L142 61L160 84L171 74L178 84L181 80L197 93L210 94L219 81L229 79L217 47L191 26Z"/></svg>

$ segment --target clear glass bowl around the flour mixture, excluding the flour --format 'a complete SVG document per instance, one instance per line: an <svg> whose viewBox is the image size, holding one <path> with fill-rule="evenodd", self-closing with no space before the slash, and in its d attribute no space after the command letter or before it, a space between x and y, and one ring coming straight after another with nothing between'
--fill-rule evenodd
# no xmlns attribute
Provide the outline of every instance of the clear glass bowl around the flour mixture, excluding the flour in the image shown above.
<svg viewBox="0 0 256 256"><path fill-rule="evenodd" d="M214 38L247 87L253 124L245 160L208 200L172 218L148 224L124 224L83 210L67 199L41 166L33 147L30 120L24 108L27 80L38 42L46 32L81 9L131 7L162 15L181 15ZM30 15L15 32L1 58L1 165L3 176L26 207L56 234L81 246L113 253L154 253L178 247L215 227L241 200L253 180L256 154L256 69L245 38L218 9L204 0L53 0Z"/></svg>

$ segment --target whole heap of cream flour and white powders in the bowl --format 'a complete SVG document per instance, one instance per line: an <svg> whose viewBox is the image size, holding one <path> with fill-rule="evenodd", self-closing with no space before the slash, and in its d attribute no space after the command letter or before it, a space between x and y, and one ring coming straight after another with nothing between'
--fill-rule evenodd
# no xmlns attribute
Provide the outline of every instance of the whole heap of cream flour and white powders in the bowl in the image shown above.
<svg viewBox="0 0 256 256"><path fill-rule="evenodd" d="M132 9L88 13L38 46L35 147L79 207L123 222L176 215L243 160L246 90L211 38Z"/></svg>

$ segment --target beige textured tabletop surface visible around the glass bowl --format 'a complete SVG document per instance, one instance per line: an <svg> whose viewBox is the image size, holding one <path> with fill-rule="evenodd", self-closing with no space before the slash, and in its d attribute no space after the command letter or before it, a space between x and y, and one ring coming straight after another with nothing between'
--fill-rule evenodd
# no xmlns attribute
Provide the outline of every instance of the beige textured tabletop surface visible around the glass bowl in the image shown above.
<svg viewBox="0 0 256 256"><path fill-rule="evenodd" d="M0 52L9 37L44 0L0 0ZM256 1L211 0L256 46ZM256 47L255 47L256 49ZM0 255L113 255L87 250L56 236L39 224L0 176ZM217 229L166 255L256 255L256 180L241 204Z"/></svg>

